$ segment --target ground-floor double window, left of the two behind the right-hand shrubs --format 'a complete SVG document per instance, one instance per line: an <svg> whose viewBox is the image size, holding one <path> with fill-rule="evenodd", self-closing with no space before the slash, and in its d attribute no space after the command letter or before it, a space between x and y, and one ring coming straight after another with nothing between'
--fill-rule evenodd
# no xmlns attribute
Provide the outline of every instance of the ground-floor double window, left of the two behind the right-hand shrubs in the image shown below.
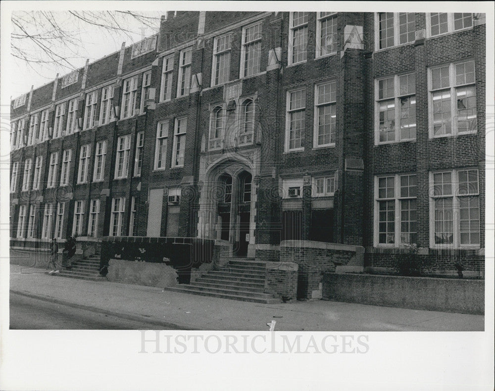
<svg viewBox="0 0 495 391"><path fill-rule="evenodd" d="M375 244L416 243L416 175L375 178Z"/></svg>

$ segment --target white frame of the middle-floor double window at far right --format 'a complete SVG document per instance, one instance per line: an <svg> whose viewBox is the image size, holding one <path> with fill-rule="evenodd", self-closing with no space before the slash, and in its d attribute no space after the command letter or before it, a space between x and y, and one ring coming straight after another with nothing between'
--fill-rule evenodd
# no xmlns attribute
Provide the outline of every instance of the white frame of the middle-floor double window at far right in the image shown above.
<svg viewBox="0 0 495 391"><path fill-rule="evenodd" d="M468 62L473 62L474 65L474 82L472 83L465 83L465 84L453 84L456 80L456 73L455 73L455 66L460 65L460 64L465 64ZM448 66L448 80L449 80L449 86L448 87L443 87L443 88L438 88L436 90L433 90L433 77L432 77L432 72L434 69L437 68L442 68ZM458 131L458 123L457 123L457 95L456 91L457 89L460 89L462 87L474 87L475 90L475 99L476 99L476 64L473 60L463 60L463 61L456 61L456 62L451 62L448 64L443 64L443 65L435 65L432 67L428 68L428 127L429 127L429 135L430 138L439 138L439 137L452 137L452 136L457 136L457 135L465 135L465 134L473 134L478 132L478 107L476 107L476 118L475 122L476 125L473 126L473 130L468 130L466 132L459 132ZM434 134L434 121L433 121L433 94L437 91L449 91L450 94L450 129L451 133L449 134Z"/></svg>

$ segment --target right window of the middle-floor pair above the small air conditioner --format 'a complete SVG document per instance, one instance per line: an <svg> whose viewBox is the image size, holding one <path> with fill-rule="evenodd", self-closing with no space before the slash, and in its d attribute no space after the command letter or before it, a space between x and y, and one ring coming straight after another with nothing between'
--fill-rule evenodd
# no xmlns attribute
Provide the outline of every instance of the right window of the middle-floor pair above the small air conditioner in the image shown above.
<svg viewBox="0 0 495 391"><path fill-rule="evenodd" d="M337 83L315 86L314 147L335 145Z"/></svg>

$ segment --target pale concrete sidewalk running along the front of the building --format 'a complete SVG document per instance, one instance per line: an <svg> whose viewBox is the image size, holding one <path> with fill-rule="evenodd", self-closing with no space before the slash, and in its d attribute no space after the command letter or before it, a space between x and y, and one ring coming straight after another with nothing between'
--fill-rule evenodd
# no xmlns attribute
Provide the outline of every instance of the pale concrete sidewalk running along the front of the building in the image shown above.
<svg viewBox="0 0 495 391"><path fill-rule="evenodd" d="M10 265L10 291L182 330L483 331L484 316L335 301L259 304L94 282Z"/></svg>

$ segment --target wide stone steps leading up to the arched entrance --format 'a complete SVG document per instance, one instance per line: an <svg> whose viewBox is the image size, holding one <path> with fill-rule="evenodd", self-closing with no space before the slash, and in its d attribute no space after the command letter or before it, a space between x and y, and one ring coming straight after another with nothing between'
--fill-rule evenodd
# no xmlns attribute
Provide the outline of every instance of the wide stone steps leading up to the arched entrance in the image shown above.
<svg viewBox="0 0 495 391"><path fill-rule="evenodd" d="M209 270L189 285L165 288L165 291L256 303L280 303L279 298L263 292L265 279L265 262L233 257L219 270Z"/></svg>

